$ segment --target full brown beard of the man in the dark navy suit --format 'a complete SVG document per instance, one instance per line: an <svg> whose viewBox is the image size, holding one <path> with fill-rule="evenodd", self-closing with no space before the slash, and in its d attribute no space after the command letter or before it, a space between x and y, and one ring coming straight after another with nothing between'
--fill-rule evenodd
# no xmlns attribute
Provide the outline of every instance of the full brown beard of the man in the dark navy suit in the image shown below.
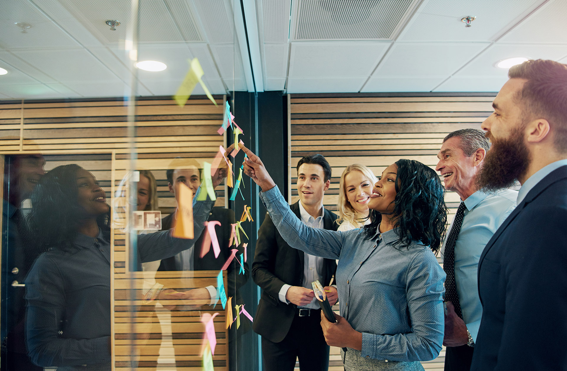
<svg viewBox="0 0 567 371"><path fill-rule="evenodd" d="M490 132L486 137L490 138ZM514 130L508 138L490 140L492 146L476 180L479 189L486 192L513 186L530 165L530 152L520 130Z"/></svg>

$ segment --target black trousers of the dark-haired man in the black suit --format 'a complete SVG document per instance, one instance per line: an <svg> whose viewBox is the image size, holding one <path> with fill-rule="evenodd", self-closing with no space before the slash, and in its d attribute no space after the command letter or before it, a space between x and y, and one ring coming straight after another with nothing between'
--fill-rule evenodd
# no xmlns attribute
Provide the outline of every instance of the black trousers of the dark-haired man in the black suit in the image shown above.
<svg viewBox="0 0 567 371"><path fill-rule="evenodd" d="M329 346L321 329L321 310L309 317L295 315L289 332L280 343L262 336L262 355L266 371L293 371L299 358L301 371L328 371Z"/></svg>

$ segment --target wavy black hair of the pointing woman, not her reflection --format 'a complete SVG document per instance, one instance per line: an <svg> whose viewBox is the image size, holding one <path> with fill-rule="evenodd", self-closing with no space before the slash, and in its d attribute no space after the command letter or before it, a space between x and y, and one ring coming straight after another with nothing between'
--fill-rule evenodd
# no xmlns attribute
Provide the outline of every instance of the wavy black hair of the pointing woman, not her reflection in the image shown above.
<svg viewBox="0 0 567 371"><path fill-rule="evenodd" d="M409 246L419 241L434 253L441 247L447 223L445 188L433 169L416 160L396 161L397 181L393 214L398 215L395 228L399 240L394 245ZM382 215L370 210L371 223L366 225L367 238L373 238L382 221Z"/></svg>

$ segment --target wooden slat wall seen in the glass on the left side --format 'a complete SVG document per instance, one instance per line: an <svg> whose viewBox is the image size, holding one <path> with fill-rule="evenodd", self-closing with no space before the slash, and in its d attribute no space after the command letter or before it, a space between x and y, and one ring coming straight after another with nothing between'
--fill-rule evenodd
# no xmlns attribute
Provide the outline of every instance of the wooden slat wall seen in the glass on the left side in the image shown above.
<svg viewBox="0 0 567 371"><path fill-rule="evenodd" d="M154 173L160 210L166 215L176 206L166 179L166 169L171 160L176 156L188 157L202 165L204 161L213 159L219 145L226 143L226 138L217 133L222 123L225 98L216 96L215 99L218 107L206 97L192 97L183 108L167 97L137 100L136 135L132 142L128 137L128 108L122 99L0 101L0 154L43 153L47 161L46 170L77 163L98 178L107 198L113 201L116 186L129 170L132 145L138 157L136 169L148 169ZM225 186L219 186L217 191L221 195L217 206L225 206ZM138 291L141 291L141 272L126 271L125 234L115 229L112 238L115 366L116 369L128 366L128 360L132 358L129 345L138 347L145 344L139 359L139 369L142 370L145 361L155 360L158 356L160 339L157 339L156 332L159 329L149 327L151 316L148 313L151 312L138 305L139 302L132 302L136 309L128 310L126 288L139 288ZM178 276L180 272L174 272L174 276L176 274ZM213 272L201 274L204 274L201 281L216 285ZM230 293L227 295L231 296ZM221 313L214 319L219 345L213 360L215 369L227 370L225 314L222 308L217 312ZM204 330L198 321L200 312L183 313L172 316L172 322L175 322L172 329L177 341L187 344L187 353L179 356L187 361L187 368L183 369L200 369L200 344ZM144 334L149 334L150 339L141 339ZM137 340L131 340L132 336Z"/></svg>

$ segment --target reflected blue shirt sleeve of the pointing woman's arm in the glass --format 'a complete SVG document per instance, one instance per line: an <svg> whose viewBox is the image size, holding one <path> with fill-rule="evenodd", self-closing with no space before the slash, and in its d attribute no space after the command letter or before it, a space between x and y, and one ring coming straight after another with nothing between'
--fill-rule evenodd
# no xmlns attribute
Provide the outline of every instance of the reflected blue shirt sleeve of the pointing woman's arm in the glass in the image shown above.
<svg viewBox="0 0 567 371"><path fill-rule="evenodd" d="M193 198L193 238L175 238L171 236L171 229L155 233L141 234L138 236L138 254L140 261L153 262L166 259L179 254L181 251L191 248L201 236L205 229L205 221L209 218L209 212L214 206L207 196L206 201L197 201L201 187Z"/></svg>

